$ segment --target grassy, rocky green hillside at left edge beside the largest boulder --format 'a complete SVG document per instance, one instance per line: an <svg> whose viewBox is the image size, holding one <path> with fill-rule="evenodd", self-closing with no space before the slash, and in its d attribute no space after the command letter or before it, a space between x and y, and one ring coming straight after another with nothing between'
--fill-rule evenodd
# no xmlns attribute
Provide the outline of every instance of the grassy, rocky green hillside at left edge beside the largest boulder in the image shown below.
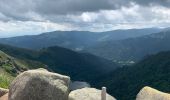
<svg viewBox="0 0 170 100"><path fill-rule="evenodd" d="M21 60L0 51L0 87L8 88L13 78L28 69L44 67L44 64L31 60Z"/></svg>

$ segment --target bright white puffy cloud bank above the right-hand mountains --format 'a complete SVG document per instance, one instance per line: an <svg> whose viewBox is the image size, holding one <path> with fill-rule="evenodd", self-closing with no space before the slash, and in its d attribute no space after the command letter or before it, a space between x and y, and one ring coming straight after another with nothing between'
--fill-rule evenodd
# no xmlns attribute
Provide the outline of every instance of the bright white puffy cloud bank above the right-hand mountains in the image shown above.
<svg viewBox="0 0 170 100"><path fill-rule="evenodd" d="M67 18L80 30L108 31L114 29L169 27L170 8L162 6L144 7L133 4L117 10L84 12Z"/></svg>

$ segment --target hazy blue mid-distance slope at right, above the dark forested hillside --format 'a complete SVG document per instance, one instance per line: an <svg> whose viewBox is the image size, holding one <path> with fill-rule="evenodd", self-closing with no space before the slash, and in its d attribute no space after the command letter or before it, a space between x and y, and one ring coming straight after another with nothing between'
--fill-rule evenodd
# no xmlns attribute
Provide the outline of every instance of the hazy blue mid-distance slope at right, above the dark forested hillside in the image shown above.
<svg viewBox="0 0 170 100"><path fill-rule="evenodd" d="M115 61L138 61L144 56L170 50L170 31L138 38L101 42L87 48L92 54Z"/></svg>

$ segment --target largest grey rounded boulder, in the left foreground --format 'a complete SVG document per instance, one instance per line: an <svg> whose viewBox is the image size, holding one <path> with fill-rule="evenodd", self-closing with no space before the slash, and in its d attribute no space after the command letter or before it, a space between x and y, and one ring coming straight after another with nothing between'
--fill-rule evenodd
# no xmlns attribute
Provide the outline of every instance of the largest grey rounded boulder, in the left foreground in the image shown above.
<svg viewBox="0 0 170 100"><path fill-rule="evenodd" d="M9 100L68 100L70 78L45 69L21 73L12 82Z"/></svg>

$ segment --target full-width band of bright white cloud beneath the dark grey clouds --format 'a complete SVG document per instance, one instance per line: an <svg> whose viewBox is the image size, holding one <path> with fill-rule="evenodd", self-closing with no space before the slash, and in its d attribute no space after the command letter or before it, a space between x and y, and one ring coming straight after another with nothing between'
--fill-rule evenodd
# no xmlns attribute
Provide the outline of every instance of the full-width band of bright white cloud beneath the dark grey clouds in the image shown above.
<svg viewBox="0 0 170 100"><path fill-rule="evenodd" d="M0 37L23 34L37 34L54 30L109 31L115 29L169 27L170 8L163 6L141 6L132 3L130 7L98 12L42 16L27 12L22 17L32 19L11 20L0 12ZM10 19L4 21L3 19Z"/></svg>

